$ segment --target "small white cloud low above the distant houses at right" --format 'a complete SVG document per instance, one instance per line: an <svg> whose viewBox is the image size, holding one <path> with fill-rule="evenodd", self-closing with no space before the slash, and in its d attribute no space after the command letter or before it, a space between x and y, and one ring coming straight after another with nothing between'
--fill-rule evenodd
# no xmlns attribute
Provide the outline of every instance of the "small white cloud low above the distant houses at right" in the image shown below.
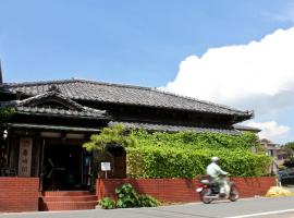
<svg viewBox="0 0 294 218"><path fill-rule="evenodd" d="M270 141L277 141L285 137L290 128L286 125L279 125L277 122L249 122L247 126L260 129L261 132L258 133L260 138L267 138Z"/></svg>

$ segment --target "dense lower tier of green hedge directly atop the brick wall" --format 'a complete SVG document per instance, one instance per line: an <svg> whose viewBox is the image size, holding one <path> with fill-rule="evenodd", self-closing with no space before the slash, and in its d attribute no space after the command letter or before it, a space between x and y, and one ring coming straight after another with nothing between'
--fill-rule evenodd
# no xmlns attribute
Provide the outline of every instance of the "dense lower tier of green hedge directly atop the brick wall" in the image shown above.
<svg viewBox="0 0 294 218"><path fill-rule="evenodd" d="M127 148L127 173L134 178L195 178L205 174L212 156L219 156L220 166L233 177L264 175L270 164L270 158L265 155L241 149L144 146Z"/></svg>

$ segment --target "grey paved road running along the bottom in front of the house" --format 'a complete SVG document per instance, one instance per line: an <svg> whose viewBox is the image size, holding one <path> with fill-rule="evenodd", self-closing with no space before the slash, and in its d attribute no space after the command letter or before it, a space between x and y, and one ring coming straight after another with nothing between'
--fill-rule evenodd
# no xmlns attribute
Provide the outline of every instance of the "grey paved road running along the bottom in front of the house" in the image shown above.
<svg viewBox="0 0 294 218"><path fill-rule="evenodd" d="M136 209L2 214L0 218L293 218L294 197L249 198Z"/></svg>

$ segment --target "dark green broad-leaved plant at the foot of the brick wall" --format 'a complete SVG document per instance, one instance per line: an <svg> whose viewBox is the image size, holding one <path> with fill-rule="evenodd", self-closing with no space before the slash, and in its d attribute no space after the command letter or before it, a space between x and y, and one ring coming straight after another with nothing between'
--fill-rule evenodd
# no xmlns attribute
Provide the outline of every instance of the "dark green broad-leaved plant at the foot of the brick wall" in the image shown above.
<svg viewBox="0 0 294 218"><path fill-rule="evenodd" d="M118 195L118 208L156 207L159 205L159 202L155 197L136 193L134 187L128 183L117 187L115 193Z"/></svg>

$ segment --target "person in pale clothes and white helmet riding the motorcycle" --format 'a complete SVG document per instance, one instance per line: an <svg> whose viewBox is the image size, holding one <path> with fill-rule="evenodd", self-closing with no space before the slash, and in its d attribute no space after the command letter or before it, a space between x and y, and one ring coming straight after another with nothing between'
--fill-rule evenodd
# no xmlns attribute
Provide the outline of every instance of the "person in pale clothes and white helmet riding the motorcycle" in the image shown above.
<svg viewBox="0 0 294 218"><path fill-rule="evenodd" d="M219 166L219 157L212 157L211 164L207 166L206 173L211 178L212 182L216 182L220 186L220 196L228 196L230 192L230 185L225 178L229 172L223 171Z"/></svg>

